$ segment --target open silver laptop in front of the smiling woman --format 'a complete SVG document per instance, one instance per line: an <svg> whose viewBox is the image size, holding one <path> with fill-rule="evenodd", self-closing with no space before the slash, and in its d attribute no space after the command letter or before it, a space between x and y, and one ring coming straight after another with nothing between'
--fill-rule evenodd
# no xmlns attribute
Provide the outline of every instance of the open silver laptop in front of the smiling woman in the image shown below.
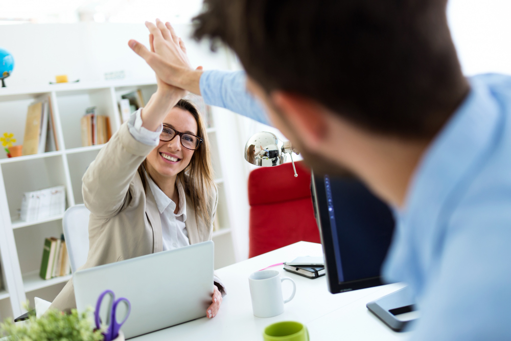
<svg viewBox="0 0 511 341"><path fill-rule="evenodd" d="M127 298L131 313L121 327L126 338L206 316L213 294L212 241L76 271L79 312L95 309L109 289Z"/></svg>

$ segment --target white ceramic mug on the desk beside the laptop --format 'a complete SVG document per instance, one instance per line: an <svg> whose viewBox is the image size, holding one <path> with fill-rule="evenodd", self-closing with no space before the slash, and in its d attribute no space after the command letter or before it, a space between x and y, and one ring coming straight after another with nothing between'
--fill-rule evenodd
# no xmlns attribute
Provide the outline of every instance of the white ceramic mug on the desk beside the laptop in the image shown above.
<svg viewBox="0 0 511 341"><path fill-rule="evenodd" d="M284 300L282 298L282 285L285 280L293 283L293 293ZM276 270L256 271L248 277L250 285L250 297L252 298L252 310L257 317L271 317L284 312L284 303L288 303L294 297L296 284L289 277L282 277Z"/></svg>

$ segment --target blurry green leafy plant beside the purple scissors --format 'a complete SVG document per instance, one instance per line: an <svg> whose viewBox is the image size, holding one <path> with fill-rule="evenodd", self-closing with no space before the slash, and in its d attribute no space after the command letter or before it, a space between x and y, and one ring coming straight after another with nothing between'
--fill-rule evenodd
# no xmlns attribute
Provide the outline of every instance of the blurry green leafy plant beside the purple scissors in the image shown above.
<svg viewBox="0 0 511 341"><path fill-rule="evenodd" d="M0 337L7 336L9 341L101 341L101 330L94 329L90 310L79 313L76 309L71 314L59 310L48 310L38 319L35 312L25 323L13 323L11 319L0 324ZM114 341L124 341L123 334Z"/></svg>

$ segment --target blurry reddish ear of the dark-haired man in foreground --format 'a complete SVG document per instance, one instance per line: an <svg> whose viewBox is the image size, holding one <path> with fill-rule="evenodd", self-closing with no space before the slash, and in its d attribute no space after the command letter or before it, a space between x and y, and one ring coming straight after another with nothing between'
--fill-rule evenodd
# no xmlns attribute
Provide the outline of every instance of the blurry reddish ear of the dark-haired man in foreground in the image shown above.
<svg viewBox="0 0 511 341"><path fill-rule="evenodd" d="M299 139L309 149L316 149L327 132L326 109L310 98L288 92L274 91L270 98Z"/></svg>

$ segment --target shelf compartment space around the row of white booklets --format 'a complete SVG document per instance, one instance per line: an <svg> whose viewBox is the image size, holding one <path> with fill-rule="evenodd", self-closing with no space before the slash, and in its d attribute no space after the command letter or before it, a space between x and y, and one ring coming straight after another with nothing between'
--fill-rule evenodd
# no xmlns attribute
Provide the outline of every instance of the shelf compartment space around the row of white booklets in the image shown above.
<svg viewBox="0 0 511 341"><path fill-rule="evenodd" d="M61 152L24 162L0 164L11 217L17 220L23 193L66 184ZM19 156L24 157L24 156Z"/></svg>

